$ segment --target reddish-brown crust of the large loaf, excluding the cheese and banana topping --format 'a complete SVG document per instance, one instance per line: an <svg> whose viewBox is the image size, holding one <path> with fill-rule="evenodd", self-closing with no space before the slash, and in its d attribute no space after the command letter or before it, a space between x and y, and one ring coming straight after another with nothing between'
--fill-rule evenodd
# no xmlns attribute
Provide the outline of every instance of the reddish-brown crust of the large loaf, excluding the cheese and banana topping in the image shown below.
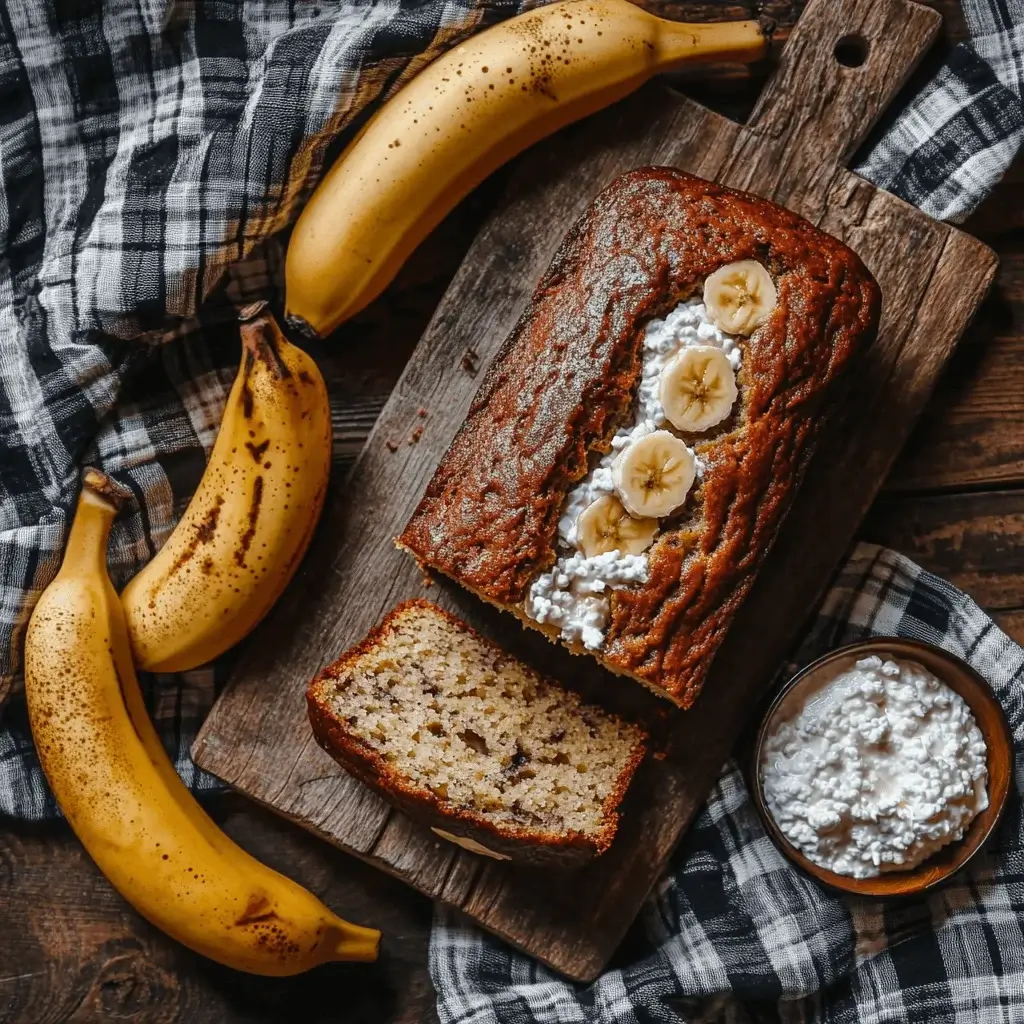
<svg viewBox="0 0 1024 1024"><path fill-rule="evenodd" d="M521 606L554 561L567 492L633 400L644 325L741 259L768 267L778 304L742 343L739 415L695 445L707 468L686 522L663 529L646 584L613 592L599 652L682 707L788 509L822 399L878 326L870 273L803 218L670 168L615 179L558 250L398 539L424 566Z"/></svg>

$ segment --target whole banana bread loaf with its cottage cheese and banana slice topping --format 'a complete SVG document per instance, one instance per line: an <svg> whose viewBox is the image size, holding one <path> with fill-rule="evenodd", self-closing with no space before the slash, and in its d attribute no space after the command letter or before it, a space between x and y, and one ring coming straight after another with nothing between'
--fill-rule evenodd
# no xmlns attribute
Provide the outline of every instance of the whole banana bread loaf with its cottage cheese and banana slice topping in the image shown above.
<svg viewBox="0 0 1024 1024"><path fill-rule="evenodd" d="M397 543L689 707L881 297L845 245L669 168L577 222Z"/></svg>

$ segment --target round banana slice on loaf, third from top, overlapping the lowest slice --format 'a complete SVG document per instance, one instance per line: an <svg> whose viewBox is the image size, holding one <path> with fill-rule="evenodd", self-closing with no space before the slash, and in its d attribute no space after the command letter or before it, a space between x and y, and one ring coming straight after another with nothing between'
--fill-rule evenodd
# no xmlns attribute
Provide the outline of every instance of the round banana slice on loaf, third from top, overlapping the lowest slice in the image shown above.
<svg viewBox="0 0 1024 1024"><path fill-rule="evenodd" d="M672 515L686 501L695 476L693 453L668 430L633 441L611 465L611 482L626 511L652 519Z"/></svg>

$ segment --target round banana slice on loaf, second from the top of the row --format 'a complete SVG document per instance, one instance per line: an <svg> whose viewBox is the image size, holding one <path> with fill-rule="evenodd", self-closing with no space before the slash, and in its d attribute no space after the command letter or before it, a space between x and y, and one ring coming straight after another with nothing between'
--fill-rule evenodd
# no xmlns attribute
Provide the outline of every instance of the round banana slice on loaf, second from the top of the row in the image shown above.
<svg viewBox="0 0 1024 1024"><path fill-rule="evenodd" d="M680 349L662 371L658 397L677 430L710 430L728 418L738 395L729 357L712 345Z"/></svg>

